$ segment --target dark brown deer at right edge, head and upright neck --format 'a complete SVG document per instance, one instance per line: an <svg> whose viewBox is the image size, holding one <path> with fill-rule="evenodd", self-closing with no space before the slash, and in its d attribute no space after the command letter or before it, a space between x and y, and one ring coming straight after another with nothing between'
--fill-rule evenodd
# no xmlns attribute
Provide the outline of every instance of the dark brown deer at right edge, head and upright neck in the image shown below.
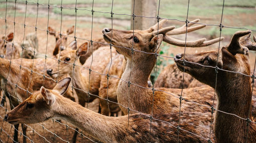
<svg viewBox="0 0 256 143"><path fill-rule="evenodd" d="M176 55L175 63L179 70L185 69L186 73L216 89L216 142L256 140L256 125L251 122L251 77L245 76L250 75L248 51L256 49L250 35L250 31L238 31L233 34L230 43L220 50Z"/></svg>

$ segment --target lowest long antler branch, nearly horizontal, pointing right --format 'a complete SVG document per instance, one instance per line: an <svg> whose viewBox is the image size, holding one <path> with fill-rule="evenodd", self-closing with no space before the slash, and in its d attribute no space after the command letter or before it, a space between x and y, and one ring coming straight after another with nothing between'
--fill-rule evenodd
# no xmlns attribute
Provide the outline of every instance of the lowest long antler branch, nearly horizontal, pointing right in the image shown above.
<svg viewBox="0 0 256 143"><path fill-rule="evenodd" d="M224 39L224 37L221 38L216 38L216 39L212 39L209 41L205 41L205 38L196 40L196 41L182 41L182 40L178 40L169 36L164 36L163 41L167 42L169 44L172 45L176 45L176 46L180 46L180 47L184 47L186 45L186 47L205 47L205 46L209 46L212 45L214 43L217 43L219 41L222 41Z"/></svg>

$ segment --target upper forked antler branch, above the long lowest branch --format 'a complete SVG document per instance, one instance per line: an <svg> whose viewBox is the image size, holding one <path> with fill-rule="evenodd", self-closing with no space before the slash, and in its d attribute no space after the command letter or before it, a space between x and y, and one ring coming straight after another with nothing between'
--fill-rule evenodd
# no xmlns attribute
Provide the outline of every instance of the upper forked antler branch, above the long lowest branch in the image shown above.
<svg viewBox="0 0 256 143"><path fill-rule="evenodd" d="M189 22L187 24L187 28L186 28L186 24L184 24L183 26L181 26L179 28L176 28L175 30L173 30L171 32L168 32L167 35L184 34L184 33L186 33L186 31L187 31L187 33L188 32L193 32L193 31L199 30L199 29L206 26L206 25L201 24L201 25L190 27L191 25L194 25L195 22L198 22L198 21L200 21L200 19L196 19L196 20L193 20L193 21Z"/></svg>

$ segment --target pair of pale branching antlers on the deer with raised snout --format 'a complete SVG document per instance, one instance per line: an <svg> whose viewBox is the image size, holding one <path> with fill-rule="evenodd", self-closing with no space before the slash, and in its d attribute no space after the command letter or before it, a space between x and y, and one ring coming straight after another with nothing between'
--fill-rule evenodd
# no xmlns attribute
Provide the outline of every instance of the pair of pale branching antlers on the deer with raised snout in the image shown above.
<svg viewBox="0 0 256 143"><path fill-rule="evenodd" d="M212 40L209 40L209 41L206 41L205 38L202 38L202 39L199 39L199 40L196 40L196 41L178 40L178 39L170 37L170 35L178 35L178 34L184 34L186 32L187 33L188 32L193 32L193 31L199 30L200 28L205 27L206 25L197 25L197 26L191 27L191 25L194 25L195 22L200 21L200 19L196 19L196 20L193 20L193 21L189 22L187 24L187 27L186 27L186 24L185 24L185 25L183 25L179 28L176 28L176 29L175 29L175 26L169 26L169 27L161 28L163 23L166 22L166 21L167 20L165 20L165 19L159 21L159 25L157 23L154 26L152 26L151 28L149 28L147 31L151 32L151 34L153 34L153 35L163 34L163 36L164 36L163 41L164 42L167 42L167 43L172 44L172 45L180 46L180 47L184 47L185 45L186 45L186 47L205 47L205 46L209 46L209 45L212 45L214 43L217 43L217 42L224 39L224 37L221 37L221 38L216 38L216 39L212 39ZM157 30L157 27L159 27L158 30Z"/></svg>

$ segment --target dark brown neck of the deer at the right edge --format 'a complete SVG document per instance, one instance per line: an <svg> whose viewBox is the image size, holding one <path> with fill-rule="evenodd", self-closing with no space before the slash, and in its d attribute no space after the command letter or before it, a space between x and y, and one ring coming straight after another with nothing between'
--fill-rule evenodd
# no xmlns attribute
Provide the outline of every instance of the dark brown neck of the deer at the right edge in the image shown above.
<svg viewBox="0 0 256 143"><path fill-rule="evenodd" d="M231 79L232 81L230 81L230 77L229 80L219 79L221 82L218 83L221 84L217 85L217 109L233 113L244 119L249 118L252 120L251 113L249 112L252 96L250 78L237 74L236 77L232 77ZM217 142L223 140L230 140L230 142L245 142L244 139L246 138L247 132L246 124L247 122L245 120L217 111L215 117L215 134ZM252 126L254 126L254 130L256 129L255 125L251 124L248 136L253 134Z"/></svg>

